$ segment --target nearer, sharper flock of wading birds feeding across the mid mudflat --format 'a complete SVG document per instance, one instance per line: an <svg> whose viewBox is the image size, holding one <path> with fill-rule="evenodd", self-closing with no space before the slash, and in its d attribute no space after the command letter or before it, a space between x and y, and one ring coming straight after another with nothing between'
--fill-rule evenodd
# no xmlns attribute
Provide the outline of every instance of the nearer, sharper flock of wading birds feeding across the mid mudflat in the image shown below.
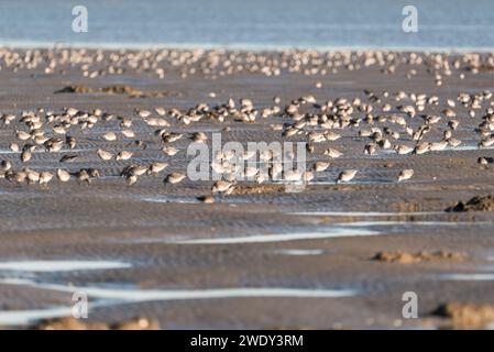
<svg viewBox="0 0 494 352"><path fill-rule="evenodd" d="M229 99L223 105L212 107L207 103L200 103L188 111L167 110L163 107L155 108L154 111L135 110L135 116L142 119L146 125L154 127L154 136L163 145L158 153L168 156L178 153L179 148L175 147L174 143L183 138L196 143L208 142L208 134L201 131L193 133L173 132L171 119L174 119L176 124L189 125L201 120L213 120L217 123L222 123L227 120L253 123L257 118L270 119L273 117L284 117L287 119L287 122L271 123L271 129L278 131L281 138L285 140L303 138L307 142L306 150L309 154L314 153L315 144L330 144L330 142L334 142L342 136L340 134L342 131L351 130L356 132L356 138L367 140L362 151L364 154L373 155L378 150L391 150L397 154L406 155L425 154L459 146L462 142L454 138L454 131L457 131L460 124L459 120L455 119L457 113L454 112L458 103L463 106L472 118L476 116L476 111L482 113L480 123L474 129L479 134L477 146L482 148L494 145L494 101L491 100L492 94L490 91L473 95L460 94L455 100L447 99L443 109L437 116L421 113L427 106L438 106L440 103L439 98L436 96L397 92L393 95L393 99L397 101L397 105L393 107L389 102L382 103L382 99L391 98L388 92L383 92L382 96L371 91L365 91L365 94L366 101L362 101L360 98L354 98L352 101L339 98L318 103L314 96L306 96L282 107L279 105L281 99L275 97L273 106L257 110L250 99L244 98L240 99L239 103L233 99ZM402 105L402 100L408 100L413 103ZM374 113L374 110L377 109L380 111L378 114ZM78 143L75 135L79 134L79 138L84 139L85 130L92 129L98 123L108 123L112 120L119 121L118 131L101 132L100 141L105 141L105 144L108 145L107 142L129 140L127 145L132 145L132 150L117 150L117 147L113 150L97 148L94 153L100 160L105 162L113 160L128 161L129 165L123 167L120 175L127 179L129 185L135 184L140 176L146 174L158 175L166 169L168 163L161 162L160 155L156 156L156 162L150 164L138 162L139 157L132 161L135 154L139 154L135 147L141 147L141 150L146 147L146 142L136 139L136 134L132 129L134 119L110 114L100 109L86 112L75 108L66 108L58 113L39 109L37 111L23 111L20 116L1 116L3 128L14 125L10 130L15 134L15 142L10 144L10 150L19 154L19 163L15 163L13 160L3 160L0 165L0 176L12 183L26 183L30 185L47 185L55 176L62 183L69 182L72 177L79 182L90 183L91 179L101 176L101 172L97 168L81 168L70 172L61 167L53 173L35 170L29 167L32 153L35 151L42 153L69 152ZM411 121L415 121L415 129L410 125ZM223 131L229 129L230 127L226 127ZM425 136L432 129L442 132L442 139L425 141ZM407 141L408 143L405 144L402 141ZM255 154L244 152L241 157L250 160L257 157ZM283 165L275 162L278 155L273 150L267 150L265 153L261 152L259 158L261 162L270 165L268 176L272 178L284 173L281 177L282 179L310 182L315 177L315 173L330 168L331 161L340 157L342 154L343 152L329 147L323 151L327 161L315 162L312 167L305 172L298 169L284 170ZM235 169L238 167L238 156L234 152L219 152L213 157L210 167L222 174L223 179L215 183L211 189L212 194L228 195L233 191L235 176L238 175ZM65 154L61 157L59 163L69 163L77 157L77 154ZM234 158L233 162L232 158ZM336 182L350 182L356 173L356 169L342 170ZM257 167L246 167L242 176L260 184L265 182L264 175L260 173ZM409 179L413 176L413 169L403 169L396 175L398 182ZM186 178L184 174L171 173L166 175L164 182L178 184L184 178ZM211 200L210 197L205 199L205 201Z"/></svg>

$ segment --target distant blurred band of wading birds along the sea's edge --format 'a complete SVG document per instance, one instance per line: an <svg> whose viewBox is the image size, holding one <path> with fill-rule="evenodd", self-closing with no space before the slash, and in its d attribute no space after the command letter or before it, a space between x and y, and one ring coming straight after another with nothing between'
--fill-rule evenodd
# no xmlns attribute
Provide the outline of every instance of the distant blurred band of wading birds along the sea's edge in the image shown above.
<svg viewBox="0 0 494 352"><path fill-rule="evenodd" d="M386 75L395 75L406 69L406 78L413 78L425 68L433 77L437 86L441 86L444 77L455 73L463 79L465 73L494 70L494 53L449 55L389 51L254 52L173 48L105 51L64 47L19 51L0 47L0 70L13 73L23 69L41 70L47 75L80 72L88 78L144 74L163 79L173 72L177 72L182 78L201 75L211 79L237 74L327 76L367 67L377 67Z"/></svg>

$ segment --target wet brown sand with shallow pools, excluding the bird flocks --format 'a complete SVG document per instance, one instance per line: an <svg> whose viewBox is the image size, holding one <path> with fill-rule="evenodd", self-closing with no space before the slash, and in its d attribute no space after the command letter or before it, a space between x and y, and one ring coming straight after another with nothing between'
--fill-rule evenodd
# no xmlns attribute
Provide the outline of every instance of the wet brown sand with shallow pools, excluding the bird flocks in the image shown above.
<svg viewBox="0 0 494 352"><path fill-rule="evenodd" d="M64 154L78 154L63 166L73 170L97 167L102 177L90 185L72 179L46 186L0 179L0 326L26 328L36 319L68 316L76 290L88 293L90 322L146 317L157 320L162 329L433 329L449 326L448 319L432 315L440 305L494 305L494 213L444 211L458 201L494 195L494 164L477 164L481 156L493 157L494 151L479 150L480 136L474 132L491 101L484 101L475 118L463 107L454 108L460 121L454 136L463 142L459 147L422 155L381 150L364 155L366 140L355 136L366 128L362 122L339 131L342 138L338 141L315 144L309 163L328 160L322 155L327 147L343 156L318 173L304 191L286 193L279 185L245 182L232 195L216 196L215 204L197 200L210 194L213 182L163 183L171 172L186 172L190 141L173 143L179 153L166 156L153 134L157 128L134 113L161 106L186 110L199 102L224 103L230 97L249 98L260 109L272 106L275 96L282 106L307 95L318 102L340 97L365 100L364 89L370 89L437 95L439 106L427 107L426 112L440 114L446 99L457 100L460 92L493 90L492 72L453 69L437 86L431 65L425 64L413 66L417 74L411 78L406 77L408 64L397 65L394 74L371 65L314 76L238 72L211 77L198 68L185 78L180 77L184 65L165 63L164 67L162 79L132 69L89 78L68 65L48 74L43 65L0 70L0 116L39 108L100 108L134 121L135 139L147 145L134 147L134 162L169 163L164 174L127 186L119 174L129 162L103 162L96 155L97 148L117 151L132 141L101 140L101 133L120 129L114 120L75 132L76 151L35 151L29 165L22 165L20 153L9 150L19 125L1 124L0 160L18 168L55 172ZM102 91L55 94L67 86L101 89L111 85L173 94L140 98ZM403 105L392 98L388 102ZM174 132L210 133L229 127L222 132L223 143L283 141L282 132L270 124L289 121L278 116L257 117L252 123L204 120L184 125L166 119ZM420 118L415 119L411 123ZM439 125L444 128L446 121ZM440 129L427 134L430 141L441 136ZM338 173L348 168L359 174L348 184L336 185ZM415 175L397 183L404 168L413 168ZM373 260L378 252L420 251L448 251L464 257L409 264ZM75 267L62 270L64 264L48 263L54 261L74 261ZM77 267L77 261L86 265ZM17 267L14 262L37 262L39 270L25 263ZM92 263L89 267L88 262ZM410 290L419 297L419 319L402 317L402 295Z"/></svg>

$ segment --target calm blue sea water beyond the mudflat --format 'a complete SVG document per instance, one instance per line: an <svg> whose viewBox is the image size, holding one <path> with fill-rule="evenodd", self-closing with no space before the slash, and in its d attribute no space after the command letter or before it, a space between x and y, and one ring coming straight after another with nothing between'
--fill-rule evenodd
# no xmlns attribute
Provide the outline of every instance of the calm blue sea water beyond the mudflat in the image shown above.
<svg viewBox="0 0 494 352"><path fill-rule="evenodd" d="M418 32L402 30L405 6ZM75 6L88 32L72 29ZM494 51L493 0L0 0L0 45Z"/></svg>

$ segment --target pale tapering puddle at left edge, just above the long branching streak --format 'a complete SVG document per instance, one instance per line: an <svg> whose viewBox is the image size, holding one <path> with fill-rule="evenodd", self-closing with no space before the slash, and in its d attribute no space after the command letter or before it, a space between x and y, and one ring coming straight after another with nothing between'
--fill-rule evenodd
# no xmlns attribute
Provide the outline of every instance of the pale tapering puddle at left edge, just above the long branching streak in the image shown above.
<svg viewBox="0 0 494 352"><path fill-rule="evenodd" d="M13 261L0 262L0 271L12 272L73 272L73 271L98 271L111 268L125 268L132 265L123 262L110 261Z"/></svg>

